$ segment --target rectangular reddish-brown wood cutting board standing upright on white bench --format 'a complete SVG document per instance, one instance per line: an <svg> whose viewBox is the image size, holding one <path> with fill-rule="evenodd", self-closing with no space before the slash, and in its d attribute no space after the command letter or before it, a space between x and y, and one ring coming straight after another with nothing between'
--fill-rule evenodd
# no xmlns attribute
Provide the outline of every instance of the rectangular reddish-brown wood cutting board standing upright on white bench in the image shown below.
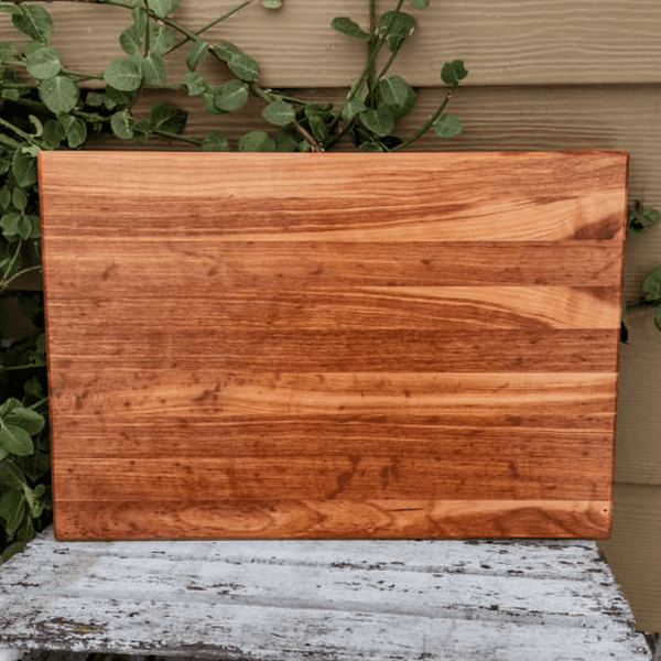
<svg viewBox="0 0 661 661"><path fill-rule="evenodd" d="M607 537L627 161L42 151L57 537Z"/></svg>

